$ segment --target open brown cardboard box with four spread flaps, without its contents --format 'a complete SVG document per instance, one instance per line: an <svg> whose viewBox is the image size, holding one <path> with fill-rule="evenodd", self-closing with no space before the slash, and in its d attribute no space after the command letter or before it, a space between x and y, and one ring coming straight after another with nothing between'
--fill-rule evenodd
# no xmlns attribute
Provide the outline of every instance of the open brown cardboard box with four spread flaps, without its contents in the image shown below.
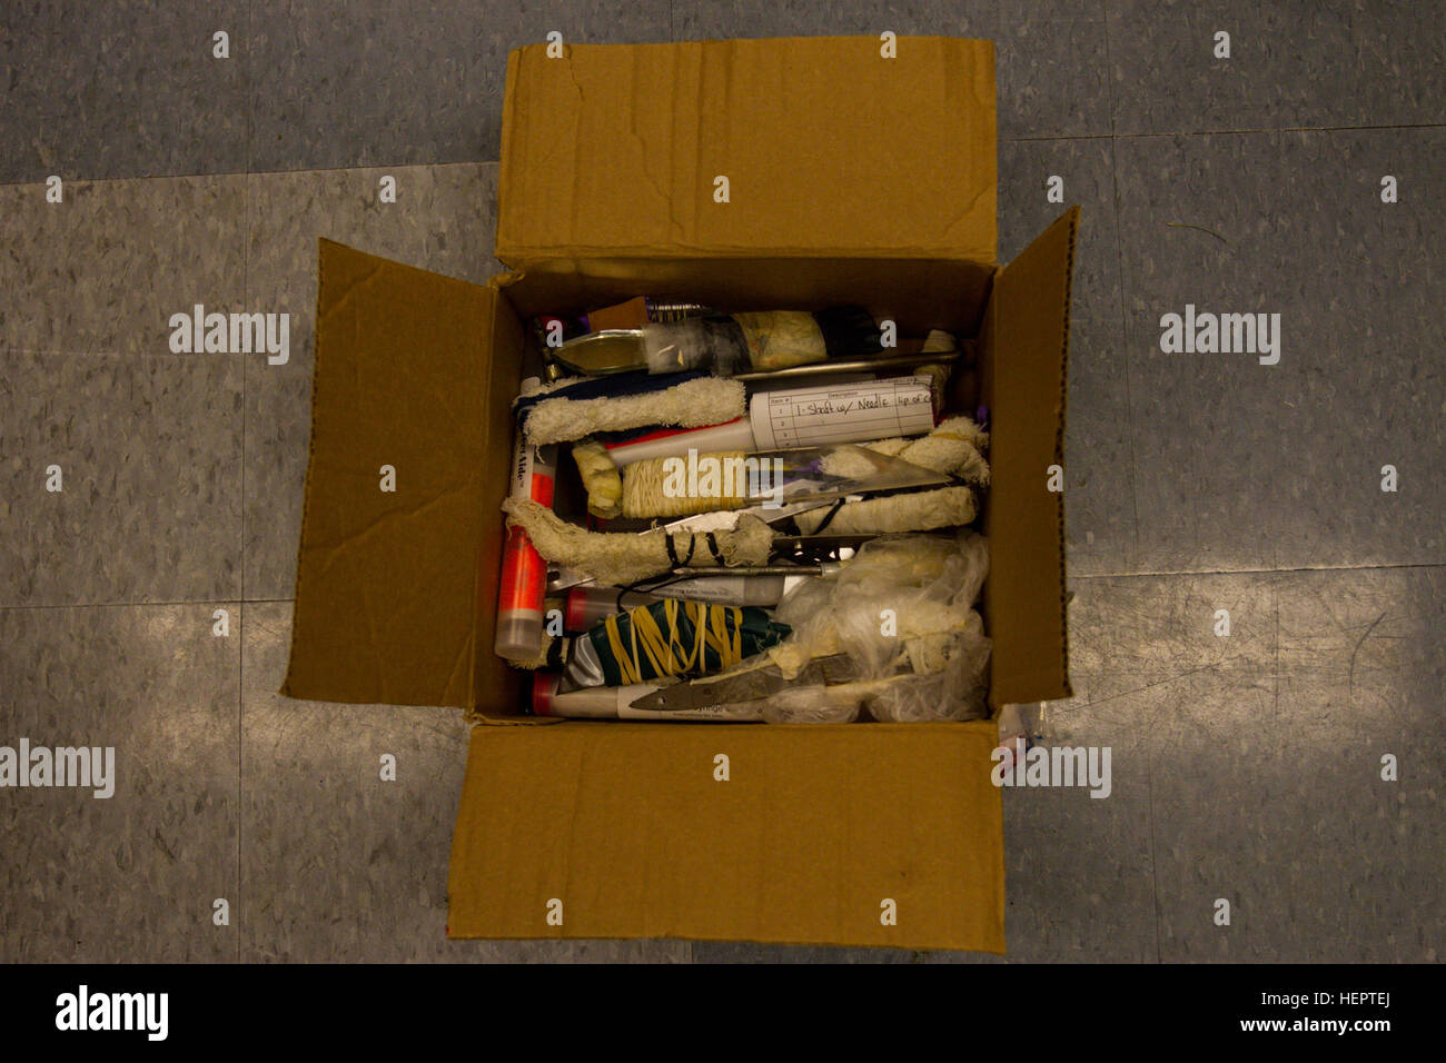
<svg viewBox="0 0 1446 1063"><path fill-rule="evenodd" d="M639 294L860 302L901 334L977 336L991 703L1070 694L1047 470L1064 461L1077 208L995 265L992 45L539 45L512 54L505 107L497 257L512 273L471 285L321 243L283 693L476 713L453 937L1002 952L992 720L541 726L515 714L521 677L492 652L528 315Z"/></svg>

